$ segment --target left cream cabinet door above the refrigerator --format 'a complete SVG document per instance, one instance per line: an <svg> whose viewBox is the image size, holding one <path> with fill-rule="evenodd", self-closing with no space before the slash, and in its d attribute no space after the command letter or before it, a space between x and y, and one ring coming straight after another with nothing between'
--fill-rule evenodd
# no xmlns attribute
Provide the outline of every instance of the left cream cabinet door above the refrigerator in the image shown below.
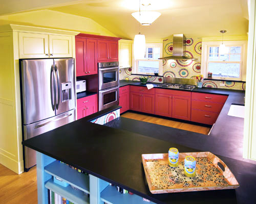
<svg viewBox="0 0 256 204"><path fill-rule="evenodd" d="M48 36L19 32L19 58L47 58L49 56Z"/></svg>

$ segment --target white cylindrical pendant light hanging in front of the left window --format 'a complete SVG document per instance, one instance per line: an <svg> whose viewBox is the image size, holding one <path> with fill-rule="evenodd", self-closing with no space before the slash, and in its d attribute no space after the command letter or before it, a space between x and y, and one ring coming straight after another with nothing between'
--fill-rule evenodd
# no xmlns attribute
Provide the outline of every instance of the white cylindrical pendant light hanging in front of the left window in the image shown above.
<svg viewBox="0 0 256 204"><path fill-rule="evenodd" d="M140 4L140 1L139 1ZM139 19L140 19L140 5L139 5ZM139 34L135 35L133 43L134 59L144 59L146 51L146 39L144 35L140 34L140 23L139 23Z"/></svg>

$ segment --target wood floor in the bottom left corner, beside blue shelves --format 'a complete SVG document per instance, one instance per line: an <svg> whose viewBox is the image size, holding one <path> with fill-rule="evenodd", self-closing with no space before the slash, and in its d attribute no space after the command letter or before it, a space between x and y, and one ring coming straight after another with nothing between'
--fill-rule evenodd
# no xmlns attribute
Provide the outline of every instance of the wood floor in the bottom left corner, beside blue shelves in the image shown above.
<svg viewBox="0 0 256 204"><path fill-rule="evenodd" d="M0 204L37 203L36 167L16 174L0 164Z"/></svg>

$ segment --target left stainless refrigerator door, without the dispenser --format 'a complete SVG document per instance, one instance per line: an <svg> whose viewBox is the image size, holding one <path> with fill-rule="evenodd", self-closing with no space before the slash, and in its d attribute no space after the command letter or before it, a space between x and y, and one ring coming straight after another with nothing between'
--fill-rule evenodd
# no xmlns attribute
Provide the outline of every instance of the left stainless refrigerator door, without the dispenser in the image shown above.
<svg viewBox="0 0 256 204"><path fill-rule="evenodd" d="M24 124L55 116L53 60L23 60Z"/></svg>

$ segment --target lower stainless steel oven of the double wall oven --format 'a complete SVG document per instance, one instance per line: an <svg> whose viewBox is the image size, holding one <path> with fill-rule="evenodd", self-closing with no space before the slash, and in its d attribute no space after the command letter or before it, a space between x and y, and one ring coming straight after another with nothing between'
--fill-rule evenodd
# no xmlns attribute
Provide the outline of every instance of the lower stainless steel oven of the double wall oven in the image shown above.
<svg viewBox="0 0 256 204"><path fill-rule="evenodd" d="M119 86L99 91L99 111L119 104Z"/></svg>

